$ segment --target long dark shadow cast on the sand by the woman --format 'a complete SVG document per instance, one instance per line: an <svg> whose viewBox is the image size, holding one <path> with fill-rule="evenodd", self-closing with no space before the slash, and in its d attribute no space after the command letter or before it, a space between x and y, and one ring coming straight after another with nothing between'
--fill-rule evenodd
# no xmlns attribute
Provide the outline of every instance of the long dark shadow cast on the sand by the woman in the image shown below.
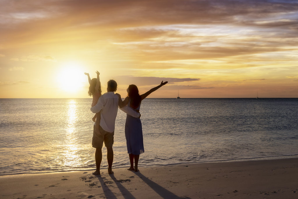
<svg viewBox="0 0 298 199"><path fill-rule="evenodd" d="M178 199L178 198L180 198L177 195L175 195L172 192L170 192L169 190L163 188L159 184L153 182L152 180L150 180L149 178L147 178L146 176L144 176L140 172L134 172L134 173L137 176L139 176L146 184L148 184L148 186L150 186L162 198L164 198L164 199Z"/></svg>

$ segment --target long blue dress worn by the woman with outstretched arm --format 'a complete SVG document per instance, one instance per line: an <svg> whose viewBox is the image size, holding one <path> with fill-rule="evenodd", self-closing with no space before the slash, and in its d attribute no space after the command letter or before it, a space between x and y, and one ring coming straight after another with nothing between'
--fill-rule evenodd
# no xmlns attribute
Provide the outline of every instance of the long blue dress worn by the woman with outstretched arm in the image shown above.
<svg viewBox="0 0 298 199"><path fill-rule="evenodd" d="M135 110L139 110L140 106ZM125 138L127 153L133 155L140 155L141 153L144 153L142 123L140 118L134 118L131 115L126 115Z"/></svg>

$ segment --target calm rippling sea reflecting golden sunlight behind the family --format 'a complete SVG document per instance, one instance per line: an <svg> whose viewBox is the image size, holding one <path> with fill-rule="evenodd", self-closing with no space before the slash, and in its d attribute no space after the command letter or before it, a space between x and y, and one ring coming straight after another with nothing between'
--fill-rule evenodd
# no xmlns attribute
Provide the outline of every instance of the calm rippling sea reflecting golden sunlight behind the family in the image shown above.
<svg viewBox="0 0 298 199"><path fill-rule="evenodd" d="M0 175L95 169L91 101L0 99ZM139 166L298 154L297 98L149 98L140 112ZM119 110L114 167L129 166L125 117Z"/></svg>

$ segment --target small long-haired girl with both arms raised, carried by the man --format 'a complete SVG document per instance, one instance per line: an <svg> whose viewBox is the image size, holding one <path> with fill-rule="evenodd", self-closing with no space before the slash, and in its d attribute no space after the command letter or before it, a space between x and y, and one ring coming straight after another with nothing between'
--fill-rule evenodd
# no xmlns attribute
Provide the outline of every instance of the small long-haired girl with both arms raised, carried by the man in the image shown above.
<svg viewBox="0 0 298 199"><path fill-rule="evenodd" d="M88 76L88 81L90 84L88 95L93 97L91 107L94 107L97 104L99 97L101 96L101 86L100 86L100 80L99 80L100 73L96 71L97 78L93 78L93 79L90 79L89 73L85 72L84 74ZM95 122L96 118L97 120L100 120L100 112L94 115L94 117L92 118L92 121Z"/></svg>

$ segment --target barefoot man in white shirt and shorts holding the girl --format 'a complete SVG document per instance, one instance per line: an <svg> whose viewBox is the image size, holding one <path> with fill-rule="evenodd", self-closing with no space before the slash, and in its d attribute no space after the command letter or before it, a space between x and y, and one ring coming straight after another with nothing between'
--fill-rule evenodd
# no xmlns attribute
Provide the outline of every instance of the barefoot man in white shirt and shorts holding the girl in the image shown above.
<svg viewBox="0 0 298 199"><path fill-rule="evenodd" d="M115 120L118 112L119 98L114 92L117 90L117 82L115 80L108 81L107 92L100 96L97 104L91 107L93 113L100 112L100 121L96 119L93 127L92 146L96 148L95 151L95 163L96 171L94 175L100 175L100 163L102 161L102 147L103 142L107 147L107 159L108 159L108 173L114 173L112 171L112 164L114 159L114 131ZM128 115L135 118L139 118L140 114L131 108L127 108L125 111Z"/></svg>

